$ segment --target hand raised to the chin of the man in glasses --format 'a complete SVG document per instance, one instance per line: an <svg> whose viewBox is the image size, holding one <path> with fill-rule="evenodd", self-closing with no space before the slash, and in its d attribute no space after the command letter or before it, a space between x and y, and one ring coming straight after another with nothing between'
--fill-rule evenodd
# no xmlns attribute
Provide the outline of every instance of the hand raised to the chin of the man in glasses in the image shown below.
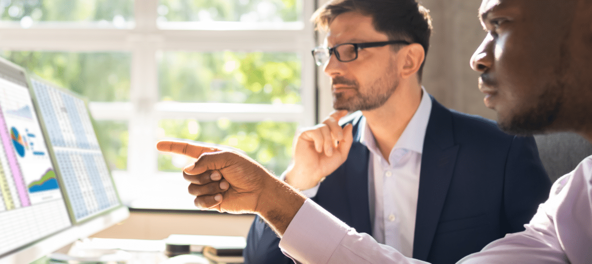
<svg viewBox="0 0 592 264"><path fill-rule="evenodd" d="M294 188L313 188L334 172L348 158L352 146L352 124L345 127L339 120L348 111L334 111L323 123L304 130L294 144L294 163L288 168L286 182Z"/></svg>

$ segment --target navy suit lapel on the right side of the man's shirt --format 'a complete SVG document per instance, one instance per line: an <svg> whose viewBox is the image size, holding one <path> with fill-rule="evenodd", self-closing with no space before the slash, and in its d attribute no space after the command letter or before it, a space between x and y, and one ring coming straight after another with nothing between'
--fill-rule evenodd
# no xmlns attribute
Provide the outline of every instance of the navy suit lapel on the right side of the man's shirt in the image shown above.
<svg viewBox="0 0 592 264"><path fill-rule="evenodd" d="M427 260L448 194L458 149L454 142L451 112L432 98L419 179L413 239L415 259Z"/></svg>

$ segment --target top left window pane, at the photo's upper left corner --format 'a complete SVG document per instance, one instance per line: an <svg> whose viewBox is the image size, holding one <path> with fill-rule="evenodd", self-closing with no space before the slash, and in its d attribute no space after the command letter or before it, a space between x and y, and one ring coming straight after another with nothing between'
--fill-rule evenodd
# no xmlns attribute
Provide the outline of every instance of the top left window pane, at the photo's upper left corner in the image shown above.
<svg viewBox="0 0 592 264"><path fill-rule="evenodd" d="M0 0L3 21L23 27L37 21L88 21L127 27L133 21L133 0Z"/></svg>

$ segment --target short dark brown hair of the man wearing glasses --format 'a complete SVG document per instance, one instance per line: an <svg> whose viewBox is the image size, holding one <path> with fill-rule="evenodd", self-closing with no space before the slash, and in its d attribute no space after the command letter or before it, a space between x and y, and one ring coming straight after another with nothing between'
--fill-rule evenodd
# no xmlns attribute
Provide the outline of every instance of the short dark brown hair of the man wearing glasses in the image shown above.
<svg viewBox="0 0 592 264"><path fill-rule="evenodd" d="M429 10L417 0L333 0L314 12L311 20L316 29L327 30L337 15L345 12L359 12L369 15L376 31L384 33L390 40L407 40L419 43L427 55L432 35L432 18ZM417 71L422 81L423 65Z"/></svg>

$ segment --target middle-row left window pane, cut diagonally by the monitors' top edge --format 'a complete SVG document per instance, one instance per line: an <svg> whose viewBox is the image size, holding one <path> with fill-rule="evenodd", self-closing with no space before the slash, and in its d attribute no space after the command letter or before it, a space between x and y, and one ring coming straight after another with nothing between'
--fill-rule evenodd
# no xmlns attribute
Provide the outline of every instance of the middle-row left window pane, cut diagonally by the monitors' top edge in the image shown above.
<svg viewBox="0 0 592 264"><path fill-rule="evenodd" d="M0 55L90 101L130 98L130 53L0 51Z"/></svg>

